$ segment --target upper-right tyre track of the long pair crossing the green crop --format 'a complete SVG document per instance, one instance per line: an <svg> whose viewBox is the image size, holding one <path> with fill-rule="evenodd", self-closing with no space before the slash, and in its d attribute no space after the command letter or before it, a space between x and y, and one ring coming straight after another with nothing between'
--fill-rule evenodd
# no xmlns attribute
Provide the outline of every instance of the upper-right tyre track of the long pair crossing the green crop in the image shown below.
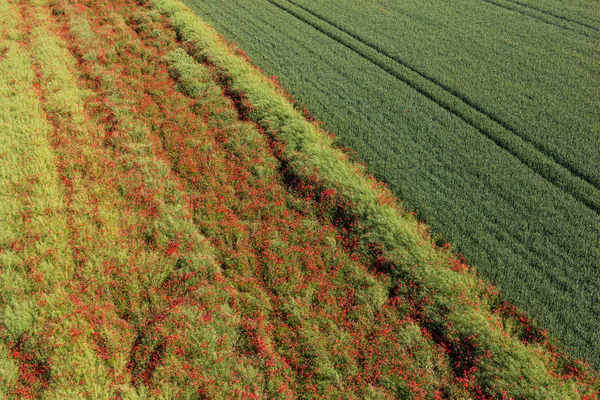
<svg viewBox="0 0 600 400"><path fill-rule="evenodd" d="M269 1L272 4L276 3L276 1L274 1L274 0L267 0L267 1ZM600 184L598 184L597 182L595 182L594 179L591 178L591 177L589 177L585 172L580 171L579 168L571 165L568 161L563 161L563 160L559 159L557 156L555 156L553 154L549 154L551 152L548 149L546 149L543 144L529 140L524 135L522 135L521 133L519 133L510 124L508 124L507 122L503 121L501 118L497 117L496 115L494 115L490 111L487 111L486 109L484 109L479 104L473 102L466 95L464 95L461 92L459 92L457 89L454 89L454 88L452 88L452 87L444 84L440 80L438 80L438 79L436 79L436 78L434 78L434 77L432 77L432 76L430 76L430 75L428 75L428 74L426 74L424 72L419 71L417 68L413 67L412 65L410 65L406 61L402 60L399 57L394 56L393 54L389 53L385 49L381 48L379 45L377 45L377 43L372 43L370 41L367 41L367 40L363 39L359 35L355 34L352 31L349 31L349 30L343 28L342 26L340 26L339 24L337 24L334 21L330 20L329 18L324 17L324 16L320 15L319 13L316 13L316 12L312 11L311 9L298 4L295 0L281 0L281 1L287 1L288 3L293 4L294 6L296 6L296 7L300 8L300 9L304 10L305 12L307 12L309 14L311 14L315 18L323 21L324 23L327 23L327 24L333 26L334 28L338 29L339 31L341 31L341 32L345 33L346 35L352 37L353 39L357 40L358 42L362 43L363 45L370 47L371 49L373 49L377 53L381 54L382 56L395 61L396 63L400 64L402 67L408 68L410 71L416 73L421 78L426 79L426 80L430 81L431 83L439 86L444 91L446 91L449 94L453 95L454 97L458 98L461 102L463 102L467 106L469 106L472 109L474 109L475 111L477 111L477 112L485 115L490 120L492 120L496 124L500 125L502 128L506 129L507 131L509 131L513 135L518 136L524 142L527 142L533 148L535 148L535 150L537 150L540 153L542 153L543 156L550 158L553 162L555 162L556 164L558 164L561 167L565 168L566 170L568 170L569 172L571 172L573 175L575 175L577 178L580 178L580 179L586 181L590 185L594 186L596 189L600 190ZM484 1L487 1L487 0L484 0ZM297 18L301 18L301 16L296 16L296 17ZM304 21L304 22L309 23L308 21ZM323 32L323 33L325 33L325 32ZM330 36L330 35L328 35L328 36ZM354 50L355 52L357 52L356 49L352 49L352 50ZM365 58L368 58L370 61L373 61L367 55L364 55L364 54L360 54L360 55L363 56L363 57L365 57ZM456 111L456 110L454 110L454 111ZM467 122L467 121L465 121L465 122ZM471 125L473 125L473 124L471 124ZM480 126L475 126L475 127L478 128L478 129L481 129Z"/></svg>

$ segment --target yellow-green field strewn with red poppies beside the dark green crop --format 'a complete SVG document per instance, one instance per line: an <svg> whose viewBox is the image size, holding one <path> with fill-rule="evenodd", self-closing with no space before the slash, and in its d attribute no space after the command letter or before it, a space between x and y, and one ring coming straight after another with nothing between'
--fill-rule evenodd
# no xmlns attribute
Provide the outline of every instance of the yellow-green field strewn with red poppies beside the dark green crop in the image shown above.
<svg viewBox="0 0 600 400"><path fill-rule="evenodd" d="M2 398L597 398L183 3L0 26Z"/></svg>

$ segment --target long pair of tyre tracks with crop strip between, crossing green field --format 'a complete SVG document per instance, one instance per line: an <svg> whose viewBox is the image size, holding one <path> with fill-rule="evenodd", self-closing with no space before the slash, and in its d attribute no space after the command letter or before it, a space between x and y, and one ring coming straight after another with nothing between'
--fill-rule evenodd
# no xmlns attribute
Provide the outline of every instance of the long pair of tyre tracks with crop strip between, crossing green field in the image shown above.
<svg viewBox="0 0 600 400"><path fill-rule="evenodd" d="M566 191L600 214L600 189L591 177L571 165L567 160L560 160L549 154L542 144L527 140L514 127L469 100L467 96L458 90L420 72L376 43L365 40L305 6L291 0L267 1L406 83L412 89L488 137L548 182ZM292 7L286 5L286 3Z"/></svg>

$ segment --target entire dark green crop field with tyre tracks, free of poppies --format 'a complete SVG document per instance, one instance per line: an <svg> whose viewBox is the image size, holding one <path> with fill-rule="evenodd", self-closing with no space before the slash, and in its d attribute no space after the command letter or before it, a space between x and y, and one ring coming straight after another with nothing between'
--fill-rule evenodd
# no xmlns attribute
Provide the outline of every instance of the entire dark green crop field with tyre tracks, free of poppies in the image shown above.
<svg viewBox="0 0 600 400"><path fill-rule="evenodd" d="M600 364L600 7L186 0L573 354Z"/></svg>

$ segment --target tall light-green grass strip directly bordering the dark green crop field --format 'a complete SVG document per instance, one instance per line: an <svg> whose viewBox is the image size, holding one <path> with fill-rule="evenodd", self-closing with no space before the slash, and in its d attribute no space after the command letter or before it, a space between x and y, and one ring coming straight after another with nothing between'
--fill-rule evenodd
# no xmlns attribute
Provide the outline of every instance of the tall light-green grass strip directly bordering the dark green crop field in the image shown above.
<svg viewBox="0 0 600 400"><path fill-rule="evenodd" d="M285 143L282 157L298 177L317 176L326 187L337 190L340 197L354 205L352 212L365 226L361 241L383 247L393 262L390 273L394 279L411 277L427 293L433 300L427 311L429 318L437 323L444 321L445 326L451 323L456 335L472 338L481 351L493 355L482 362L476 373L487 393L578 398L582 390L596 390L586 384L578 388L579 384L573 381L567 384L552 377L555 366L547 364L541 355L543 350L536 345L526 346L498 329L502 323L490 312L488 300L480 297L485 290L478 279L449 268L450 260L422 238L414 219L400 213L396 206L382 203L382 196L389 197L388 192L374 188L371 180L357 173L356 166L333 149L330 138L308 123L272 82L243 58L232 55L200 18L176 1L153 0L150 4L170 17L180 37L194 47L197 58L206 59L229 74L232 88L251 102L250 116ZM463 296L469 300L465 302Z"/></svg>

